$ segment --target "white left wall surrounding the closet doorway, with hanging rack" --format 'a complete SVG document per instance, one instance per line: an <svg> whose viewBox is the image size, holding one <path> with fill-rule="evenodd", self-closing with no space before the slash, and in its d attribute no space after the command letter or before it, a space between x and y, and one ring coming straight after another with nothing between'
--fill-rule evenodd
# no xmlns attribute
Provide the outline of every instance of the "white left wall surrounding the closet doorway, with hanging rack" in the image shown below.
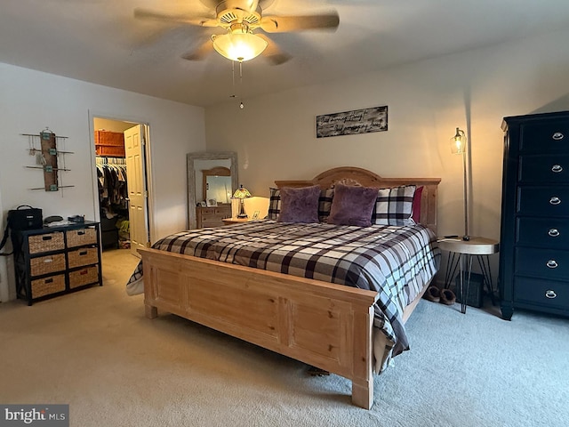
<svg viewBox="0 0 569 427"><path fill-rule="evenodd" d="M93 195L94 146L90 114L115 117L150 125L153 161L155 229L152 238L186 227L186 154L205 149L204 109L173 101L92 85L27 68L0 63L0 224L7 211L18 205L43 209L44 216L84 214L95 219ZM57 192L31 191L43 187L41 170L28 156L28 138L20 133L39 133L46 126L68 140L59 149L73 151L65 162L60 185L73 188ZM8 270L7 270L8 269ZM0 258L0 301L14 296L12 258Z"/></svg>

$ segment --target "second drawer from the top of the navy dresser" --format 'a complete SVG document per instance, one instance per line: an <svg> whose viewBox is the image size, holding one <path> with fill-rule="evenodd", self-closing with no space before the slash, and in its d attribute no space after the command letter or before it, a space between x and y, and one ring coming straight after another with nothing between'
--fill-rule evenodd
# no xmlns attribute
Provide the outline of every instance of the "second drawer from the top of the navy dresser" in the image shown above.
<svg viewBox="0 0 569 427"><path fill-rule="evenodd" d="M569 156L520 156L519 181L569 183Z"/></svg>

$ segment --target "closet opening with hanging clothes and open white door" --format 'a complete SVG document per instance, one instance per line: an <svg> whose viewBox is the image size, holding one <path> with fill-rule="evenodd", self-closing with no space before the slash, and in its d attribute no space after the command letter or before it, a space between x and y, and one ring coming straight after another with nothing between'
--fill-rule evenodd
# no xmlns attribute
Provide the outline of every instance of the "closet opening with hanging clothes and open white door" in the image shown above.
<svg viewBox="0 0 569 427"><path fill-rule="evenodd" d="M149 245L148 125L93 117L101 246L140 257Z"/></svg>

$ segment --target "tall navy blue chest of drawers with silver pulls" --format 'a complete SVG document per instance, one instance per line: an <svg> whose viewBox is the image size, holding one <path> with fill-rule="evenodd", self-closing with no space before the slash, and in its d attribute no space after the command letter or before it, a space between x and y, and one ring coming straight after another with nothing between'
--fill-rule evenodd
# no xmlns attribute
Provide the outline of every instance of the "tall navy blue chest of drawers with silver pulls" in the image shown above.
<svg viewBox="0 0 569 427"><path fill-rule="evenodd" d="M502 318L568 316L569 111L505 117L502 130Z"/></svg>

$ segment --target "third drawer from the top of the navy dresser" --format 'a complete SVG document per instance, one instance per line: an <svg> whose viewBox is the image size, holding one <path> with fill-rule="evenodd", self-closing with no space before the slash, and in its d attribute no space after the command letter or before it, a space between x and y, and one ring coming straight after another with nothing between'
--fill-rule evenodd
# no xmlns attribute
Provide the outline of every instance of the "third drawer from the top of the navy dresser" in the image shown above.
<svg viewBox="0 0 569 427"><path fill-rule="evenodd" d="M569 216L569 186L528 186L517 189L517 213Z"/></svg>

